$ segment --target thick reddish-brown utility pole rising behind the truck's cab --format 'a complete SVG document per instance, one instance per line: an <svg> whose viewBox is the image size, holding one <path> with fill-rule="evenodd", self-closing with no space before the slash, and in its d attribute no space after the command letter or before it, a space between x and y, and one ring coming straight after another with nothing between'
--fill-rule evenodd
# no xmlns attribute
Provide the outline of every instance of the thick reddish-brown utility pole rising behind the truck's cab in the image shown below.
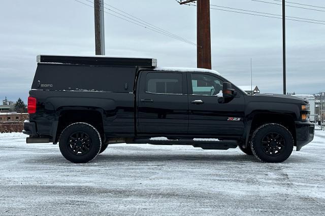
<svg viewBox="0 0 325 216"><path fill-rule="evenodd" d="M188 0L179 4L197 2L197 65L211 69L210 0Z"/></svg>

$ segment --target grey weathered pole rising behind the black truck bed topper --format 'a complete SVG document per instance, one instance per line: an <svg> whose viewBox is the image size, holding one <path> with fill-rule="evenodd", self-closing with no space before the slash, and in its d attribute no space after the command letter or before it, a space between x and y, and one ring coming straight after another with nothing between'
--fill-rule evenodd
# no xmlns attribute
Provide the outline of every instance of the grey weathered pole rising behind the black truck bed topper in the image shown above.
<svg viewBox="0 0 325 216"><path fill-rule="evenodd" d="M95 53L105 55L104 0L94 0Z"/></svg>

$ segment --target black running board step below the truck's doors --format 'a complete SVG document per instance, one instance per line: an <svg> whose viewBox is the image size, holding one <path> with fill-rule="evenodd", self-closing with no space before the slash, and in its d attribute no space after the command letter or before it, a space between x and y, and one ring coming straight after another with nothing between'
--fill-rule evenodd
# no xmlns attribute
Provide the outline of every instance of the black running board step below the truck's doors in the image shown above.
<svg viewBox="0 0 325 216"><path fill-rule="evenodd" d="M236 140L222 140L222 141L204 141L194 139L134 139L132 143L136 144L151 144L151 145L191 145L196 148L205 150L228 150L237 148Z"/></svg>

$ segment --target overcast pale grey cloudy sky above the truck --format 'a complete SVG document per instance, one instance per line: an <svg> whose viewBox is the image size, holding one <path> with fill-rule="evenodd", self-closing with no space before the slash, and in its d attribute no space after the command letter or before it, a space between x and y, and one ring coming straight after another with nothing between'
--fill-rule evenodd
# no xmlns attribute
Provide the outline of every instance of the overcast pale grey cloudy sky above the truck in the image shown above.
<svg viewBox="0 0 325 216"><path fill-rule="evenodd" d="M78 1L91 5L87 0ZM322 0L291 2L325 7ZM180 6L175 0L105 3L196 42L196 7ZM210 3L272 14L282 12L279 5L251 0ZM317 10L323 11L288 7L286 13L325 21L325 8ZM105 14L105 28L107 55L148 56L157 58L159 66L196 67L196 46L109 14ZM236 85L250 85L252 58L253 84L261 92L282 92L281 19L211 10L211 37L213 69ZM325 25L287 20L288 92L325 91L324 38ZM0 1L1 99L7 96L11 100L26 100L40 53L93 55L93 8L75 0Z"/></svg>

